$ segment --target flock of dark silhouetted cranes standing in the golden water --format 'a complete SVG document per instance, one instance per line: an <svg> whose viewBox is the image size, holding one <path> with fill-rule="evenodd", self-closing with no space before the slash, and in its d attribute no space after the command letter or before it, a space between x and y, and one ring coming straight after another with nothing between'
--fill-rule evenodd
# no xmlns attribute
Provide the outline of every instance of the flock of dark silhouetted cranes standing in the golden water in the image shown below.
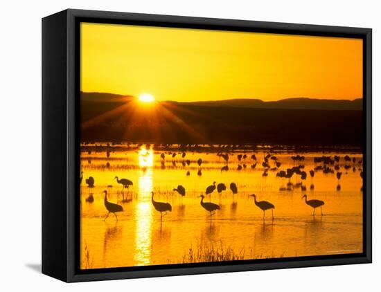
<svg viewBox="0 0 381 292"><path fill-rule="evenodd" d="M175 156L177 154L176 154L176 152L173 152L173 153L167 152L167 155L172 156L172 158L175 158ZM190 165L190 160L188 160L188 159L185 160L185 156L186 156L185 152L182 152L179 155L181 155L181 158L183 158L183 164L184 165ZM218 155L218 157L223 158L225 162L229 161L229 154L218 153L217 155ZM109 152L107 152L107 157L109 157ZM166 160L166 154L161 153L160 158L161 158L161 163L163 164L164 161ZM238 158L238 161L245 161L248 158L248 156L247 156L247 154L238 154L237 158ZM252 154L250 156L250 159L252 161L254 161L254 164L251 165L251 168L255 168L256 164L257 164L256 163L256 161L257 161L256 154ZM296 156L291 156L291 159L292 159L292 161L294 161L294 164L295 164L295 163L301 163L302 161L304 161L305 157L298 154ZM336 171L336 177L337 177L337 181L338 181L336 189L341 190L340 179L342 178L342 172L339 172L339 170L340 170L339 161L340 161L339 156L333 156L333 158L331 156L314 157L314 163L318 164L318 165L315 166L313 170L309 171L310 179L311 179L310 189L311 190L314 189L313 178L314 178L315 172L321 171L324 174L334 174ZM349 168L353 167L353 170L355 171L356 165L362 165L362 160L356 160L355 157L351 158L348 155L344 156L344 161L345 161L345 165L344 165L345 170L348 170ZM202 163L203 163L202 158L197 159L197 165L201 166ZM350 165L348 163L353 163L353 165ZM264 155L263 163L262 163L262 166L263 166L263 174L262 175L267 176L269 171L276 171L276 176L280 177L282 179L282 185L281 185L281 188L279 190L282 191L282 190L292 190L293 188L301 188L302 191L305 191L306 187L305 187L305 184L303 183L303 181L305 181L305 179L307 178L308 172L305 172L304 165L298 164L298 165L294 165L293 167L287 168L285 170L280 170L281 165L282 165L281 162L278 161L278 158L276 156L274 156L272 154ZM246 167L246 165L244 167ZM238 166L238 170L240 170L240 168L242 169L241 165ZM221 171L228 170L228 169L229 169L228 165L225 165L224 167L222 167ZM363 176L362 169L359 168L359 170L360 170L360 176L362 177ZM301 181L297 182L296 184L292 183L290 180L291 180L292 176L294 176L294 175L296 175L296 181L299 181L299 179ZM80 183L82 183L82 178L83 178L83 172L81 172ZM115 176L114 179L116 179L117 183L122 185L122 187L123 187L123 189L122 189L123 201L125 201L123 190L125 190L125 189L128 190L130 188L130 186L132 186L134 184L129 179L119 179L118 176ZM286 186L284 186L284 184L283 184L283 179L288 179ZM89 178L86 179L86 183L87 183L89 188L94 188L94 178L92 176L89 176ZM237 188L236 183L230 183L229 188L230 188L230 190L233 194L233 198L234 198L234 194L238 193L238 188ZM206 188L205 194L201 194L199 196L201 198L200 205L202 206L202 208L204 208L206 211L208 211L210 213L211 219L212 219L212 216L215 214L215 212L217 210L220 210L220 206L218 204L211 203L210 201L204 202L204 197L205 196L210 197L211 194L216 189L217 189L218 194L221 194L223 191L227 190L227 186L224 183L216 184L216 182L214 181L212 185L209 185ZM173 191L177 192L181 197L184 197L186 195L186 189L184 188L183 185L177 185L177 188L173 188ZM116 216L116 213L122 212L123 207L121 205L118 205L117 203L112 203L112 202L108 201L106 190L103 193L105 194L105 200L104 200L105 208L108 211L105 219L107 219L107 217L109 217L110 213L113 213L115 215L116 219L118 219L118 217ZM254 197L255 205L258 208L260 208L260 210L263 211L263 219L265 219L265 211L267 211L267 210L272 210L272 219L274 219L274 209L275 209L274 204L272 204L268 201L257 201L256 194L251 194L250 197ZM316 208L320 208L321 209L321 215L323 215L322 206L324 206L324 201L317 200L317 199L308 200L306 194L303 195L302 199L305 199L305 203L308 206L313 208L313 215L315 213ZM90 196L86 199L86 201L88 201L90 203L94 201L94 197L92 196L92 194L90 194ZM158 212L160 212L160 219L161 220L163 219L163 216L165 216L167 214L167 212L172 211L172 206L170 205L170 203L159 202L159 201L154 200L154 192L152 192L151 201L152 201L152 205L154 206L154 209L157 210Z"/></svg>

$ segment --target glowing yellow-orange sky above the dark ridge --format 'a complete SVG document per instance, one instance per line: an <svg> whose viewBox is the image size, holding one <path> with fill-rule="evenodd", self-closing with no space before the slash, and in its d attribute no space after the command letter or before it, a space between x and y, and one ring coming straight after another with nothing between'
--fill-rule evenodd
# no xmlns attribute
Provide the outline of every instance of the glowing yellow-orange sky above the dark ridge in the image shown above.
<svg viewBox="0 0 381 292"><path fill-rule="evenodd" d="M81 90L352 100L362 98L362 39L83 23Z"/></svg>

